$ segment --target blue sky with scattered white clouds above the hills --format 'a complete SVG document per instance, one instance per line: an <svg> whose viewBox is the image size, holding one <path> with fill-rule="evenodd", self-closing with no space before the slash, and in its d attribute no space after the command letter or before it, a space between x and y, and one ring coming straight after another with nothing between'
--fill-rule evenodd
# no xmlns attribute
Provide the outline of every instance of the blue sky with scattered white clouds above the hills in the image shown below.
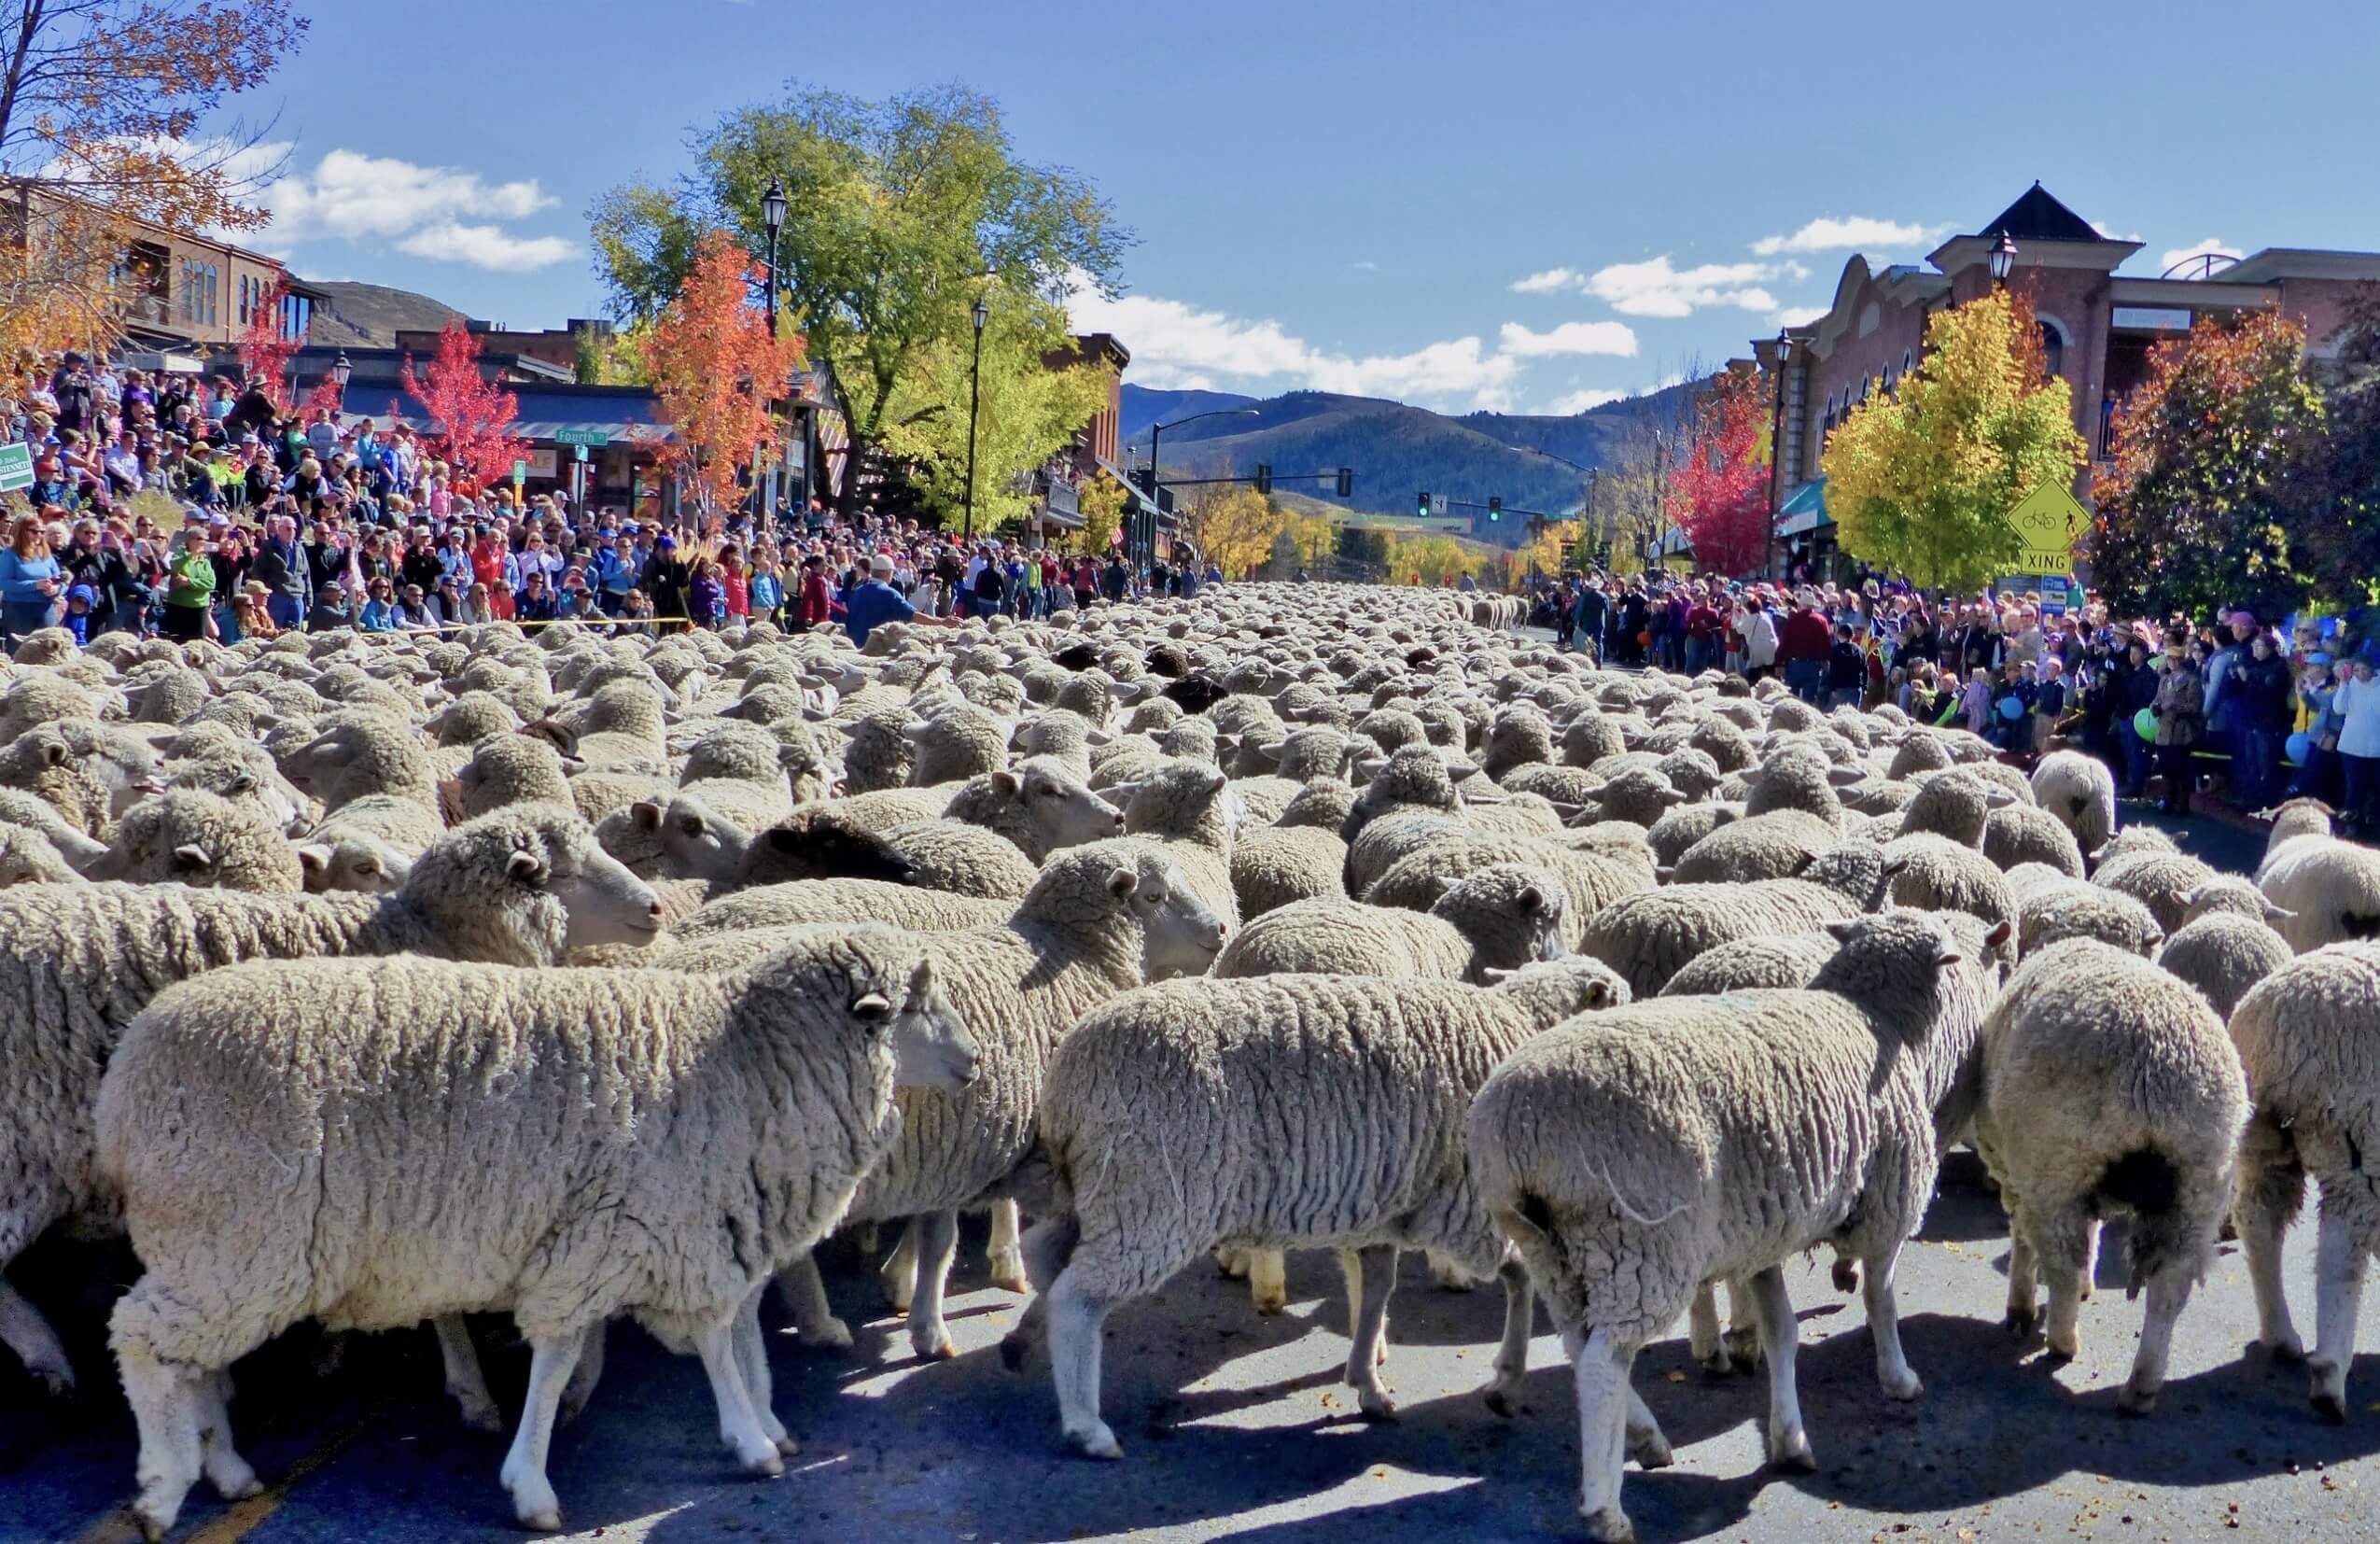
<svg viewBox="0 0 2380 1544"><path fill-rule="evenodd" d="M1145 385L1578 412L1825 307L2033 178L2147 250L2380 250L2380 7L314 0L252 245L509 326L597 314L588 202L793 76L966 81L1140 245Z"/></svg>

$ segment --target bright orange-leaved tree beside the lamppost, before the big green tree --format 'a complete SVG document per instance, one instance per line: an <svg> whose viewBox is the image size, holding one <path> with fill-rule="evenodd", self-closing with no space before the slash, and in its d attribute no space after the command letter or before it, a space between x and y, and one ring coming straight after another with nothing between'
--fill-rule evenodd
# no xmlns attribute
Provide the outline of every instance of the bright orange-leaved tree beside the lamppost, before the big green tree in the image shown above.
<svg viewBox="0 0 2380 1544"><path fill-rule="evenodd" d="M652 324L645 366L669 421L662 469L683 478L704 514L735 502L735 469L783 447L785 421L769 400L802 369L802 338L790 326L769 335L752 305L759 271L726 231L695 250L678 297Z"/></svg>

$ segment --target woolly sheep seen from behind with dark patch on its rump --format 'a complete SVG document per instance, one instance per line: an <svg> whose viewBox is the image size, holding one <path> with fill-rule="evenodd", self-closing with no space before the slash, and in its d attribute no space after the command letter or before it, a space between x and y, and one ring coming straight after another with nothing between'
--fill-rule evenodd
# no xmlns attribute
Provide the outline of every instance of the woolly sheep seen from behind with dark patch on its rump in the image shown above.
<svg viewBox="0 0 2380 1544"><path fill-rule="evenodd" d="M2173 1323L2213 1263L2244 1123L2223 1021L2123 949L2052 944L1985 1016L1975 1149L2009 1209L2009 1325L2033 1332L2040 1280L2049 1351L2075 1356L2099 1220L2128 1213L2125 1297L2147 1289L2149 1311L2121 1411L2156 1406Z"/></svg>

